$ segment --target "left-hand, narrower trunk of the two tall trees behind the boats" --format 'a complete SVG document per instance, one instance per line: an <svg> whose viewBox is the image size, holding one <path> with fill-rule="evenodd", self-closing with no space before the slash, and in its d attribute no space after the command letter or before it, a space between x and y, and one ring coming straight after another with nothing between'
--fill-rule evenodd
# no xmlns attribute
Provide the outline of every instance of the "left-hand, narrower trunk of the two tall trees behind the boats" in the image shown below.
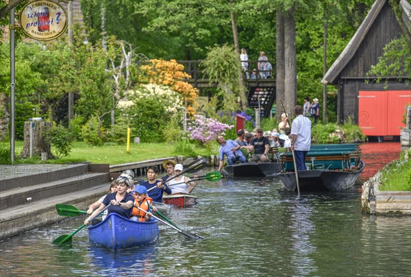
<svg viewBox="0 0 411 277"><path fill-rule="evenodd" d="M279 99L284 100L284 16L281 12L277 12L277 21L275 23L275 103L277 109L275 111L275 118L277 121L281 119L281 114L284 112L282 106L279 104Z"/></svg>

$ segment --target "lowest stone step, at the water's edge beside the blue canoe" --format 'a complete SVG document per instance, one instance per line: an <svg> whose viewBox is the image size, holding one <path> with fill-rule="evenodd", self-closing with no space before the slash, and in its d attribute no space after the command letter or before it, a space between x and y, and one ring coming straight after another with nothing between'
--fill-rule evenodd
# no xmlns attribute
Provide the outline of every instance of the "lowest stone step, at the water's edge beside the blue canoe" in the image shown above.
<svg viewBox="0 0 411 277"><path fill-rule="evenodd" d="M31 204L21 204L12 208L5 208L4 210L1 209L0 241L27 230L54 224L68 218L57 214L55 204L71 204L79 210L86 210L90 204L108 193L109 187L110 182L104 182L81 191L55 195L44 200L32 202ZM55 238L50 238L50 241L53 241L53 239L60 235L55 234Z"/></svg>

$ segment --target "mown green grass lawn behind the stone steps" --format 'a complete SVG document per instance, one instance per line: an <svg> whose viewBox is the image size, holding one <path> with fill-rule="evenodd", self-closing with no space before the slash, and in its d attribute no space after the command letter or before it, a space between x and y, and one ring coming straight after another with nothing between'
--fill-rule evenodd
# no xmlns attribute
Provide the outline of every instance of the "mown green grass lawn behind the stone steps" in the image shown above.
<svg viewBox="0 0 411 277"><path fill-rule="evenodd" d="M5 146L10 146L10 143L1 143ZM23 149L23 141L15 143L16 163L40 163L39 157L32 159L21 160L18 155ZM219 147L212 150L218 154ZM51 147L51 153L55 153L55 149ZM201 156L210 156L210 152L203 147L194 147L195 152ZM73 148L69 156L61 159L47 160L47 163L66 163L66 162L93 162L93 163L109 163L110 165L119 165L127 162L140 162L143 160L152 160L156 158L166 158L177 156L173 153L173 145L169 143L132 143L130 144L129 154L126 152L126 145L105 144L100 147L87 145L84 142L73 143ZM184 154L183 154L184 156Z"/></svg>

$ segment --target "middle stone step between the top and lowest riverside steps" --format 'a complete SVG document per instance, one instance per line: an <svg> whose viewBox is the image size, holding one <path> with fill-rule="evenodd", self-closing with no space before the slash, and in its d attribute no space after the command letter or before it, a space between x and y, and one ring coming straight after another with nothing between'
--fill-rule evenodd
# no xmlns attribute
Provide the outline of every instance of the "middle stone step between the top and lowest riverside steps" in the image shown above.
<svg viewBox="0 0 411 277"><path fill-rule="evenodd" d="M0 209L12 208L27 202L37 202L49 197L55 197L75 191L89 189L98 184L109 182L109 173L85 173L63 180L55 180L43 184L22 186L0 192ZM108 190L108 186L106 188ZM29 201L27 201L29 199Z"/></svg>

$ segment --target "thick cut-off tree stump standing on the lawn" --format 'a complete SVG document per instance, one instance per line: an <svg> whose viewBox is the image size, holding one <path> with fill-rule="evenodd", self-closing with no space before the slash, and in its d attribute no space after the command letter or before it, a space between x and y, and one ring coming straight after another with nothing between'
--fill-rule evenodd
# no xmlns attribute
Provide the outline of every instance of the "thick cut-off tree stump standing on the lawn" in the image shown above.
<svg viewBox="0 0 411 277"><path fill-rule="evenodd" d="M32 126L33 124L33 126ZM50 122L40 121L32 122L25 121L24 123L24 145L20 153L20 158L29 158L30 156L30 128L33 132L33 155L41 156L42 152L47 153L47 158L55 158L51 154L51 146L49 139L47 139L46 132L51 128Z"/></svg>

